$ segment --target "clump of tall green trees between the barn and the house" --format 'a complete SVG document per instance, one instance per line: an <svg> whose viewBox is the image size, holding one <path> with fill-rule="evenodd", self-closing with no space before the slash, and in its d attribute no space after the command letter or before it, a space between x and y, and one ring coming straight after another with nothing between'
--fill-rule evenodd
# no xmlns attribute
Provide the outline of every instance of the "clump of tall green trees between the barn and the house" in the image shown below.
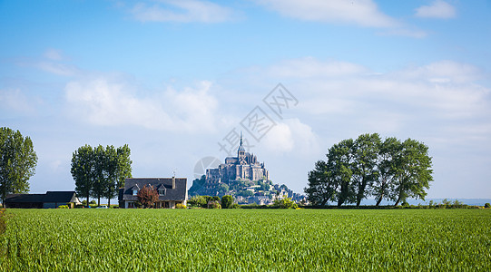
<svg viewBox="0 0 491 272"><path fill-rule="evenodd" d="M132 177L132 160L127 144L115 149L112 145L91 147L84 145L74 151L72 157L72 177L75 181L75 191L89 201L89 197L101 198L111 204L118 189L124 187L124 179Z"/></svg>

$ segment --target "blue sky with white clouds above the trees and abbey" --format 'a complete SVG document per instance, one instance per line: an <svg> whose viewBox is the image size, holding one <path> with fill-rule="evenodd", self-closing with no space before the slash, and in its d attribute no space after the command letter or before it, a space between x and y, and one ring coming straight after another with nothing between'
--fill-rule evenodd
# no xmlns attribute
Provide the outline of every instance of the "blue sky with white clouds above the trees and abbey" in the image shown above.
<svg viewBox="0 0 491 272"><path fill-rule="evenodd" d="M0 126L31 192L72 190L84 144L133 177L199 177L247 149L303 193L333 144L422 141L427 198L491 198L491 1L0 1Z"/></svg>

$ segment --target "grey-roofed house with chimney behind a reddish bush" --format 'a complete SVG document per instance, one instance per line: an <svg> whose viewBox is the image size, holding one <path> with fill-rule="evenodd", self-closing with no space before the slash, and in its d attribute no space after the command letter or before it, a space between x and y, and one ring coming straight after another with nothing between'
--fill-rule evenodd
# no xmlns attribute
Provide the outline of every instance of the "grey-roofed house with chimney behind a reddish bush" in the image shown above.
<svg viewBox="0 0 491 272"><path fill-rule="evenodd" d="M140 178L124 180L124 188L120 189L118 197L120 208L136 208L138 191L149 185L159 192L159 201L155 203L155 208L174 209L176 204L186 205L186 178Z"/></svg>

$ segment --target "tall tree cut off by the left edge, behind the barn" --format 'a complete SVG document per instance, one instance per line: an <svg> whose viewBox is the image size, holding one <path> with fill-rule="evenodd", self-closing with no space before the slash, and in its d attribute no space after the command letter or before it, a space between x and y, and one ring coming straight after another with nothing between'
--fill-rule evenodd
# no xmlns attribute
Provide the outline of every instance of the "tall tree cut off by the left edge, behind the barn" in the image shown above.
<svg viewBox="0 0 491 272"><path fill-rule="evenodd" d="M33 141L20 131L0 128L0 198L5 203L9 193L29 191L28 180L35 173L37 156Z"/></svg>

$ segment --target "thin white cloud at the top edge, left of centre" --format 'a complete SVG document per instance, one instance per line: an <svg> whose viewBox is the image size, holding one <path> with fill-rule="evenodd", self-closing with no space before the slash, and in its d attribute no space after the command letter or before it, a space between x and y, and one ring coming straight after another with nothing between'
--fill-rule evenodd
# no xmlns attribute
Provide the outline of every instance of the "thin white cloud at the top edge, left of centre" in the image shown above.
<svg viewBox="0 0 491 272"><path fill-rule="evenodd" d="M153 5L138 3L132 13L142 22L221 23L231 21L233 16L230 8L196 0L163 0Z"/></svg>

